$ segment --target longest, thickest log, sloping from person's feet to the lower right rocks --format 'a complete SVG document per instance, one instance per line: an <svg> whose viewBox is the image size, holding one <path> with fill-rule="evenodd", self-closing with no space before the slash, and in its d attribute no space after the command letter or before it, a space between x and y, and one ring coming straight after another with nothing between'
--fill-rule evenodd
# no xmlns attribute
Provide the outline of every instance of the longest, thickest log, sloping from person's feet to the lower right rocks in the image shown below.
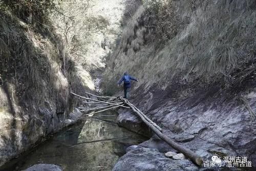
<svg viewBox="0 0 256 171"><path fill-rule="evenodd" d="M130 105L129 103L127 103L128 105ZM191 159L191 161L193 161L195 164L202 166L203 164L203 159L198 156L196 153L194 153L193 151L191 151L190 149L178 144L177 142L173 141L172 139L170 139L169 137L167 137L166 135L162 134L153 124L151 124L150 122L148 122L142 115L140 112L138 112L134 106L130 105L130 107L132 108L132 110L137 113L140 118L142 119L143 122L146 123L146 125L148 127L150 127L150 129L162 140L164 140L167 144L169 144L171 147L173 147L174 149L176 149L177 151L179 151L180 153L184 154L186 157L188 157L189 159Z"/></svg>

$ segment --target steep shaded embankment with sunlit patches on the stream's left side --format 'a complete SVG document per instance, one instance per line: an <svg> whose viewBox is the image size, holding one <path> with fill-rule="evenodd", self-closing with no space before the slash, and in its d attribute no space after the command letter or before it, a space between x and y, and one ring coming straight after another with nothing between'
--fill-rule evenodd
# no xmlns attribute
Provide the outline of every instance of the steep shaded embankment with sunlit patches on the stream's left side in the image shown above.
<svg viewBox="0 0 256 171"><path fill-rule="evenodd" d="M76 101L70 91L94 86L90 74L75 67L61 37L47 18L41 18L42 12L29 11L33 6L11 12L0 5L2 165L73 123L79 112L74 110Z"/></svg>

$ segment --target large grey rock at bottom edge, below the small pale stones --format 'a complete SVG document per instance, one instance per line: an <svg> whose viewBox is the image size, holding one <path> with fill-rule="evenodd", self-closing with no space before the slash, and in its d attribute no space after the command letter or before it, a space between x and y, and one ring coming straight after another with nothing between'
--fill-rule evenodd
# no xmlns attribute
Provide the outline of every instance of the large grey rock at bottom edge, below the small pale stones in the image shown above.
<svg viewBox="0 0 256 171"><path fill-rule="evenodd" d="M191 161L173 160L164 156L157 149L136 148L122 156L113 168L113 171L144 171L144 170L198 170Z"/></svg>

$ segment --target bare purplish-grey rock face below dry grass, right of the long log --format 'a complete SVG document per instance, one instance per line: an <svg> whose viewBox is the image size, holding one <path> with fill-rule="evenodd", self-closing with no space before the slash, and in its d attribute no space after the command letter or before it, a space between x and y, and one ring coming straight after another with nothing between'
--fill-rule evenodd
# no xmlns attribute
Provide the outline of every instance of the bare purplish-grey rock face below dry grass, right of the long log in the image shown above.
<svg viewBox="0 0 256 171"><path fill-rule="evenodd" d="M152 89L146 93L135 95L134 98L137 100L131 101L140 106L143 113L158 123L164 129L165 135L196 152L204 160L211 161L213 155L217 155L221 159L224 156L247 156L248 160L252 161L252 165L255 165L256 122L238 99L223 98L215 89L200 92L198 95L174 103L168 98L171 93ZM142 97L143 100L141 100ZM245 97L249 104L255 103L254 92ZM251 107L253 111L256 110L254 105ZM134 131L145 129L145 127L140 127L141 120L129 111L120 111L118 121L122 126ZM131 125L139 126L140 129L133 129ZM161 153L175 152L175 149L156 136L140 146L156 148ZM133 161L139 164L136 162L137 160L130 161L125 156L122 160L126 159L127 163ZM160 160L156 154L151 157L147 156L147 158ZM183 164L179 163L179 165ZM190 164L187 163L185 166ZM183 165L183 167L185 166ZM186 169L184 168L184 170Z"/></svg>

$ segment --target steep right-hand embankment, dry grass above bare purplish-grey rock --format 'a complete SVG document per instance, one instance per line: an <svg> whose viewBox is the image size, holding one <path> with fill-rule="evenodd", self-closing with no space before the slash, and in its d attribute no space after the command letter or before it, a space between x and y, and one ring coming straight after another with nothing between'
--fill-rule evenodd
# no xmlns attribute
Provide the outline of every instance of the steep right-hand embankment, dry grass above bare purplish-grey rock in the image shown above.
<svg viewBox="0 0 256 171"><path fill-rule="evenodd" d="M166 135L209 160L247 156L255 166L255 1L152 2L143 1L124 27L103 87L115 93L116 80L130 72L140 80L131 101ZM140 121L121 111L119 122ZM141 145L170 150L156 137ZM126 163L145 169L157 156Z"/></svg>

